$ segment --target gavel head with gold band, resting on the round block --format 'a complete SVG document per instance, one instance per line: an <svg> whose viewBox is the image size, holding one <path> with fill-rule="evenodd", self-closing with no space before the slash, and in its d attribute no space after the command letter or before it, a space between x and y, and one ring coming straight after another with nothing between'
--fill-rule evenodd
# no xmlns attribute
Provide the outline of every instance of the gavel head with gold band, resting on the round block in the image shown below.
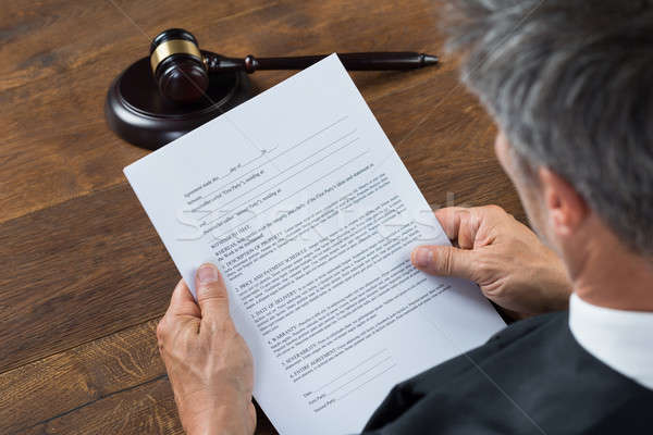
<svg viewBox="0 0 653 435"><path fill-rule="evenodd" d="M169 28L155 37L150 64L160 92L173 101L197 101L209 87L197 39L183 28Z"/></svg>

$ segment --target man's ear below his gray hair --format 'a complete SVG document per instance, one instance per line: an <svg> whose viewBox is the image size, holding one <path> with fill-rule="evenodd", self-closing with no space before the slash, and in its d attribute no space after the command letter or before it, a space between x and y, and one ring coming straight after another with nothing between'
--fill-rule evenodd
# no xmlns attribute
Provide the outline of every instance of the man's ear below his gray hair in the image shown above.
<svg viewBox="0 0 653 435"><path fill-rule="evenodd" d="M565 178L547 167L541 166L538 177L551 229L560 237L572 235L589 214L586 200Z"/></svg>

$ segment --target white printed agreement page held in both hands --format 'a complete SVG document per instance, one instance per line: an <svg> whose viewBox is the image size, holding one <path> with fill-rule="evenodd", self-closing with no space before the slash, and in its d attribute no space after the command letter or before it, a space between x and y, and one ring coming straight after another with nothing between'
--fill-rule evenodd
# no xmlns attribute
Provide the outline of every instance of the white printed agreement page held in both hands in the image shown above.
<svg viewBox="0 0 653 435"><path fill-rule="evenodd" d="M476 285L410 264L448 240L335 54L125 174L186 283L219 265L282 434L360 432L504 326Z"/></svg>

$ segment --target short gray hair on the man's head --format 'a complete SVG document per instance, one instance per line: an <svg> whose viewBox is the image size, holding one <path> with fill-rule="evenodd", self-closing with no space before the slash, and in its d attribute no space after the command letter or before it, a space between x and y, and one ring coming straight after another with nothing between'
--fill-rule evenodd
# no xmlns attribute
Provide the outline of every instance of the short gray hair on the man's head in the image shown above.
<svg viewBox="0 0 653 435"><path fill-rule="evenodd" d="M653 254L653 1L445 3L463 80L515 151Z"/></svg>

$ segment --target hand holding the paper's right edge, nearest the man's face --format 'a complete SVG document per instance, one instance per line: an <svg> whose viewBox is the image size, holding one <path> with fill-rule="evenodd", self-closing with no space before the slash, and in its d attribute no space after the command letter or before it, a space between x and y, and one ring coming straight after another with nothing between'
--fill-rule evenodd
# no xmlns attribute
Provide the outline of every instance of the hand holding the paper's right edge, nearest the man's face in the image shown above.
<svg viewBox="0 0 653 435"><path fill-rule="evenodd" d="M571 283L563 261L503 209L452 207L435 216L458 247L418 247L416 268L471 279L496 304L520 314L566 309Z"/></svg>

